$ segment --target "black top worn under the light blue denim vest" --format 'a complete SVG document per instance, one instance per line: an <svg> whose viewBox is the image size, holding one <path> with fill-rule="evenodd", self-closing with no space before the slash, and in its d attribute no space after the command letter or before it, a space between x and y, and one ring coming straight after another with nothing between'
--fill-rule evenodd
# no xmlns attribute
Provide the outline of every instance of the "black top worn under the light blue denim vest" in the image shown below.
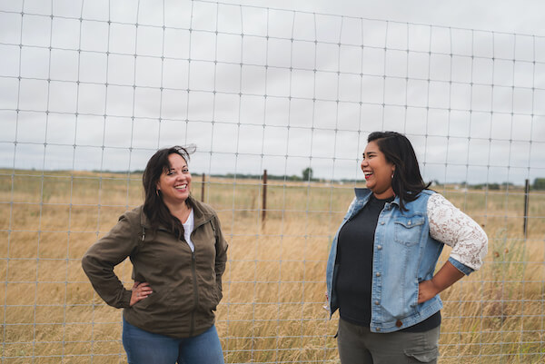
<svg viewBox="0 0 545 364"><path fill-rule="evenodd" d="M374 233L384 204L393 197L369 202L339 231L337 264L339 270L335 290L342 320L369 327L371 324L372 255ZM441 312L411 326L405 331L422 332L441 325Z"/></svg>

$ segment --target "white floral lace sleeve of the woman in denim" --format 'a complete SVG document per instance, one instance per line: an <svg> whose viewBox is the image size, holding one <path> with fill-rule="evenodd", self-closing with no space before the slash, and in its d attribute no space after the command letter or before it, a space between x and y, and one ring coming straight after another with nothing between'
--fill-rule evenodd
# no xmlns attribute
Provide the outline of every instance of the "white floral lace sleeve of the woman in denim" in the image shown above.
<svg viewBox="0 0 545 364"><path fill-rule="evenodd" d="M481 226L440 193L428 200L430 235L452 247L451 258L477 271L488 251L488 237Z"/></svg>

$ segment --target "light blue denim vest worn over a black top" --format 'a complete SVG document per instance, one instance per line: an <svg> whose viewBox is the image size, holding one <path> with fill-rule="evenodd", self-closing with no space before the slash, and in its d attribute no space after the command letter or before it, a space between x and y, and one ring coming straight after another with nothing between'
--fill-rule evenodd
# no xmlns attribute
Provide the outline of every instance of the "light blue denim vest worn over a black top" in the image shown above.
<svg viewBox="0 0 545 364"><path fill-rule="evenodd" d="M337 240L342 226L360 212L372 194L368 189L355 189L356 198L342 219L332 241L327 261L326 282L329 310L332 315L338 308L334 284L338 265ZM371 331L392 332L405 329L426 320L442 308L439 295L418 304L418 285L421 280L431 280L443 243L430 236L428 199L435 192L424 190L412 202L405 202L406 212L401 212L399 197L386 202L379 215L373 243ZM459 261L451 263L469 274L472 270Z"/></svg>

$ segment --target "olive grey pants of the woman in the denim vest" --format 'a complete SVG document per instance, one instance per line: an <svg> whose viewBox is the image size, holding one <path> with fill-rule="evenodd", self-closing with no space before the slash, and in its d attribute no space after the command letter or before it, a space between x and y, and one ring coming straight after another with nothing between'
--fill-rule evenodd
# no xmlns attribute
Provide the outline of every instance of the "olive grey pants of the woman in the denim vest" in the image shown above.
<svg viewBox="0 0 545 364"><path fill-rule="evenodd" d="M437 363L440 327L424 332L375 333L339 319L342 364Z"/></svg>

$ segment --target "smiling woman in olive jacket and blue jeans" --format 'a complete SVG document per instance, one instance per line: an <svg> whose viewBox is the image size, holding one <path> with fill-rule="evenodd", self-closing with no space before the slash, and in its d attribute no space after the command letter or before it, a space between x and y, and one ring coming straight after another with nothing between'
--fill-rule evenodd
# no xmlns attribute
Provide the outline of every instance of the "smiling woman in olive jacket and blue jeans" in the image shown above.
<svg viewBox="0 0 545 364"><path fill-rule="evenodd" d="M159 150L144 170L144 205L125 212L84 254L83 268L109 305L124 309L130 364L223 363L214 326L227 242L208 205L190 195L189 152ZM129 257L134 286L114 266Z"/></svg>

